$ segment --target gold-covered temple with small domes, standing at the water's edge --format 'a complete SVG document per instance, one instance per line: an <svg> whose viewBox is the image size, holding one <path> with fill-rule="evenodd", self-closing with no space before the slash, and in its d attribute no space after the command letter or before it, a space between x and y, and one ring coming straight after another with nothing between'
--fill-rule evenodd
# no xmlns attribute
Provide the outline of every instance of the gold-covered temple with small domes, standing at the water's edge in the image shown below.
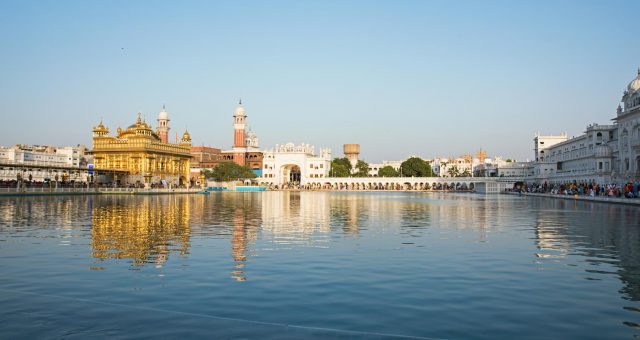
<svg viewBox="0 0 640 340"><path fill-rule="evenodd" d="M185 131L180 142L164 141L168 138L168 115L159 115L158 131L154 132L138 113L138 119L126 129L110 136L102 122L93 129L93 157L99 181L107 182L104 175L110 171L112 180L123 185L150 187L189 187L191 136ZM164 136L164 138L162 138ZM124 176L122 176L124 174Z"/></svg>

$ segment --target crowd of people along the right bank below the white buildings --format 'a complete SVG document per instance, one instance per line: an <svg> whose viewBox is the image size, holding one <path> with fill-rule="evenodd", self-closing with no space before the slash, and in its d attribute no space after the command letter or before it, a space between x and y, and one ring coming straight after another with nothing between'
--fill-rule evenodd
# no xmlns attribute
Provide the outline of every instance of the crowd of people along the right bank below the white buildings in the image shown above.
<svg viewBox="0 0 640 340"><path fill-rule="evenodd" d="M549 185L526 183L516 186L515 191L546 193L554 195L579 195L591 197L616 197L638 198L640 197L640 182L628 182L622 186L615 183L600 185L598 183L569 182L564 184Z"/></svg>

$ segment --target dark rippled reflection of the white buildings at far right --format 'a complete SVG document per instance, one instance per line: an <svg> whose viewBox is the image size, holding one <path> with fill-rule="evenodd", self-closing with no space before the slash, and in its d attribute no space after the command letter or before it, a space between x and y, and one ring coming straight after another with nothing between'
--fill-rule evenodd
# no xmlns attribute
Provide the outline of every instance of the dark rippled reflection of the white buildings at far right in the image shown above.
<svg viewBox="0 0 640 340"><path fill-rule="evenodd" d="M581 256L588 265L585 278L615 274L623 298L640 301L640 209L562 199L535 200L533 208L538 212L536 245L543 254L536 256ZM611 266L617 270L601 269Z"/></svg>

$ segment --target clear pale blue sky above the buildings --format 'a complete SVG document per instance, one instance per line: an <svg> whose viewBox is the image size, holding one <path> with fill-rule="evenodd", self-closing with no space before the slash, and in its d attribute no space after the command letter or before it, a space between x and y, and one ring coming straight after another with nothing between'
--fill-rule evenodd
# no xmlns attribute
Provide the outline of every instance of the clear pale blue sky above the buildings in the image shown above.
<svg viewBox="0 0 640 340"><path fill-rule="evenodd" d="M3 1L0 145L91 146L137 112L228 148L359 143L369 162L525 160L610 123L640 66L639 1Z"/></svg>

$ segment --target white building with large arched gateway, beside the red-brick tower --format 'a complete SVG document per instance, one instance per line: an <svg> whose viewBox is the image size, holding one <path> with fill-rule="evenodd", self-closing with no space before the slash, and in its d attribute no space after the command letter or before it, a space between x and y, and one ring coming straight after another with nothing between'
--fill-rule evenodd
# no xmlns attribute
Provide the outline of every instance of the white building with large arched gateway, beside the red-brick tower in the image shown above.
<svg viewBox="0 0 640 340"><path fill-rule="evenodd" d="M321 149L316 155L314 149L308 144L287 143L264 151L260 183L305 185L309 180L329 177L331 151Z"/></svg>

